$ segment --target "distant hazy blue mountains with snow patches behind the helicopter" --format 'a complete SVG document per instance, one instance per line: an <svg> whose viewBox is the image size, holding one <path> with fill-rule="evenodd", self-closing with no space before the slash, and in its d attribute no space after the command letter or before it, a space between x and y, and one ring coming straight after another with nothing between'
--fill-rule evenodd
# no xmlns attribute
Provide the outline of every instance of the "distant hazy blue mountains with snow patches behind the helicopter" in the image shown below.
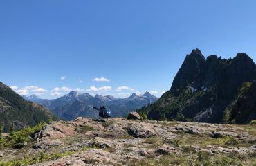
<svg viewBox="0 0 256 166"><path fill-rule="evenodd" d="M44 107L53 111L56 116L66 120L72 120L78 116L94 118L98 116L98 111L93 111L93 107L103 105L111 109L113 117L123 117L127 116L129 111L140 109L140 107L158 100L149 92L141 95L133 93L128 98L114 98L111 95L95 95L93 97L89 93L77 93L75 91L53 100L41 99L35 95L24 96L24 98L44 105Z"/></svg>

